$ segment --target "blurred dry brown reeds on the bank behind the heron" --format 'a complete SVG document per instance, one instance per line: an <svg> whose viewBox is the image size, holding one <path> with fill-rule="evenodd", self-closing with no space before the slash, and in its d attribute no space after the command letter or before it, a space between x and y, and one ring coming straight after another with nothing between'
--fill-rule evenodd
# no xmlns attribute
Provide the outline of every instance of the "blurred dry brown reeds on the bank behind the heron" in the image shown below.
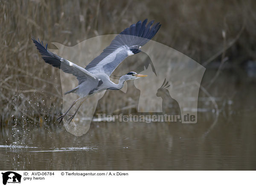
<svg viewBox="0 0 256 186"><path fill-rule="evenodd" d="M33 36L73 46L96 35L119 33L137 20L148 18L162 24L154 40L203 63L223 50L223 32L229 44L244 25L225 56L234 66L256 58L255 1L1 0L0 4L2 127L44 125L61 112L58 69L42 61L30 39ZM221 61L221 55L213 60ZM131 93L116 105L127 105L133 96ZM103 100L101 104L97 110L108 109L108 102Z"/></svg>

